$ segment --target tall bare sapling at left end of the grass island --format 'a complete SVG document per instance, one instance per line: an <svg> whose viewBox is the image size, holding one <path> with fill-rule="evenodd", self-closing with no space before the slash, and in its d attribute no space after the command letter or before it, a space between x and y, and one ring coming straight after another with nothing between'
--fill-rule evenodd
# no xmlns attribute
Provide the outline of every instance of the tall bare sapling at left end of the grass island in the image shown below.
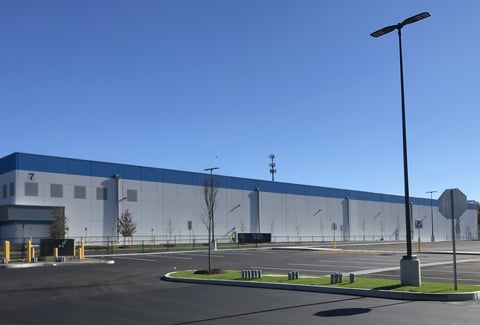
<svg viewBox="0 0 480 325"><path fill-rule="evenodd" d="M215 240L214 215L217 205L217 181L213 175L210 175L203 182L203 199L205 201L206 220L204 220L208 231L208 273L212 272L211 242Z"/></svg>

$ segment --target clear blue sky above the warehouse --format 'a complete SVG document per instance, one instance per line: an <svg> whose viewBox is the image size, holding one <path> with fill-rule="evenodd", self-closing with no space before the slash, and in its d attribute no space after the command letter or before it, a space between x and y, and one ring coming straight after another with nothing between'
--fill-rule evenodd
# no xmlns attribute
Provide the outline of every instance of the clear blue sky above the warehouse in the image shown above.
<svg viewBox="0 0 480 325"><path fill-rule="evenodd" d="M0 156L480 200L480 1L0 3Z"/></svg>

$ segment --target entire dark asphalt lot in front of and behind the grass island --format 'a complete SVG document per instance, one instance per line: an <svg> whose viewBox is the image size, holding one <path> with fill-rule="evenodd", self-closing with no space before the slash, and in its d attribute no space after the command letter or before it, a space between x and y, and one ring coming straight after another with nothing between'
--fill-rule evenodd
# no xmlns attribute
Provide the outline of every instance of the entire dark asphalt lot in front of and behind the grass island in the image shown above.
<svg viewBox="0 0 480 325"><path fill-rule="evenodd" d="M423 281L453 281L449 244L425 245L425 252L418 254ZM480 276L475 272L480 267L478 247L477 242L457 245L459 283L480 284ZM257 267L285 274L298 270L301 274L364 272L366 276L395 277L403 249L404 245L396 243L339 243L335 251L329 244L287 250L232 249L212 252L212 263L215 268ZM478 302L412 303L161 280L173 270L205 269L208 265L205 250L103 256L103 259L113 259L115 264L65 263L56 267L0 269L2 324L50 324L60 320L71 325L87 322L317 324L322 320L332 324L475 324L480 318Z"/></svg>

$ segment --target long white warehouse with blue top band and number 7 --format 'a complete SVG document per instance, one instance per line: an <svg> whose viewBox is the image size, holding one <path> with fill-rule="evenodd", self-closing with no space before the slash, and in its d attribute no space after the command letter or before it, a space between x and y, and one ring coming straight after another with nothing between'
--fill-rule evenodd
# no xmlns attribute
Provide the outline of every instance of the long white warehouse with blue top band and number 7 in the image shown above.
<svg viewBox="0 0 480 325"><path fill-rule="evenodd" d="M116 236L128 209L135 237L206 238L203 184L194 173L43 155L0 159L0 240L48 237L52 209L62 207L70 238ZM270 233L273 241L405 240L403 196L215 176L216 238ZM451 240L451 222L429 198L411 198L415 240ZM418 220L421 220L419 222ZM423 224L416 229L415 224ZM458 239L478 239L477 206L458 219Z"/></svg>

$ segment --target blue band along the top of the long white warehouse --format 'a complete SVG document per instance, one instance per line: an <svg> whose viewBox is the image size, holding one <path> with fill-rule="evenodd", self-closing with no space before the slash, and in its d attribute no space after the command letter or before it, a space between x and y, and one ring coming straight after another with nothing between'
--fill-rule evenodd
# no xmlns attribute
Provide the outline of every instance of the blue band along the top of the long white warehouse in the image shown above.
<svg viewBox="0 0 480 325"><path fill-rule="evenodd" d="M63 158L30 153L13 153L0 159L0 174L12 170L28 170L37 172L73 174L112 178L120 175L122 179L162 182L182 185L203 186L205 173L178 171L172 169L142 167L118 163L99 162L76 158ZM336 189L312 185L271 182L258 179L240 178L216 175L218 187L238 190L270 193L284 193L306 196L321 196L329 198L350 198L353 200L377 201L403 204L404 197L400 195L381 194L356 190ZM430 199L410 198L415 205L430 205ZM433 205L438 206L437 200ZM469 209L476 209L475 204L469 204Z"/></svg>

